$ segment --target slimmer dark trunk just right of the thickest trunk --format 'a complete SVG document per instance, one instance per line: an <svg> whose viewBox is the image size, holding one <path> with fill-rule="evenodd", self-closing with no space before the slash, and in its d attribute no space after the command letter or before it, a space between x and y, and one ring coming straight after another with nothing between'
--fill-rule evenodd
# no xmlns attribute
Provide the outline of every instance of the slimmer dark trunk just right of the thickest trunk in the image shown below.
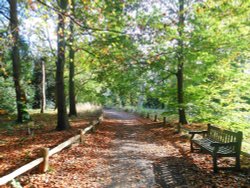
<svg viewBox="0 0 250 188"><path fill-rule="evenodd" d="M74 0L71 1L71 14L74 14ZM75 50L74 50L74 23L70 20L69 36L69 116L77 116L75 98Z"/></svg>

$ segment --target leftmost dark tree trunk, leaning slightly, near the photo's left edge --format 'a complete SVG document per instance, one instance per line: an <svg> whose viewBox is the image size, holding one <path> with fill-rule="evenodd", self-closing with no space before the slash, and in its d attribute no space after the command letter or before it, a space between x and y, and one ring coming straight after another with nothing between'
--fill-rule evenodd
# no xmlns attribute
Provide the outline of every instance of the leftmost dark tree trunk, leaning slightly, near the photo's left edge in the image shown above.
<svg viewBox="0 0 250 188"><path fill-rule="evenodd" d="M17 18L17 0L11 0L10 3L10 28L13 40L12 47L12 67L13 67L13 80L16 91L16 104L17 104L17 122L22 123L25 119L29 119L29 114L26 109L25 93L20 85L20 54L19 54L19 29Z"/></svg>

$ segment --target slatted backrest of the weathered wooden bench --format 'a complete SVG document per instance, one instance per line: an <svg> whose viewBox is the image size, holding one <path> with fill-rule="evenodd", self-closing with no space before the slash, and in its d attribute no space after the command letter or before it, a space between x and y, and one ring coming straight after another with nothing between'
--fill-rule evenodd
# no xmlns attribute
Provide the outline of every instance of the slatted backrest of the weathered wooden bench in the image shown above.
<svg viewBox="0 0 250 188"><path fill-rule="evenodd" d="M208 137L222 143L237 142L237 148L235 149L240 151L243 134L241 131L233 132L229 130L223 130L208 124Z"/></svg>

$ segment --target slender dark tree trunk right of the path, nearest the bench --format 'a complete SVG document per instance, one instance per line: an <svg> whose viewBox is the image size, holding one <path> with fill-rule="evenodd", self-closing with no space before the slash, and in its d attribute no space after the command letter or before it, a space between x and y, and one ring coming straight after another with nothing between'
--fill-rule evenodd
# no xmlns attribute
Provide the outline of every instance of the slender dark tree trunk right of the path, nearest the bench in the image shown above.
<svg viewBox="0 0 250 188"><path fill-rule="evenodd" d="M178 65L177 65L177 98L179 123L187 124L185 106L184 106L184 91L183 91L183 65L184 65L184 44L183 44L183 29L184 29L184 0L179 0L179 23L178 23Z"/></svg>

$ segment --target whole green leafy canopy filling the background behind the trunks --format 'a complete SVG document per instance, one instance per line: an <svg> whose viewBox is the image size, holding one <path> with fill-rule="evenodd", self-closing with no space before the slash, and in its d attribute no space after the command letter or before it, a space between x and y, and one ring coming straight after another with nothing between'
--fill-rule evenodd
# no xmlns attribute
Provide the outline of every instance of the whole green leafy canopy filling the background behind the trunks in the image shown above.
<svg viewBox="0 0 250 188"><path fill-rule="evenodd" d="M137 110L144 113L147 110L142 107L160 107L163 103L163 114L170 119L177 118L180 107L176 89L180 55L177 44L181 39L185 98L181 107L186 109L188 120L244 130L245 137L249 138L249 2L185 1L182 36L178 34L176 2L76 0L72 17L77 41L73 44L77 101L138 106ZM41 57L46 58L47 100L55 103L56 39L44 32L50 31L49 23L56 24L55 4L55 1L49 1L49 6L38 4L37 12L27 11L23 17L32 21L41 18L37 27L26 33L35 35L39 42L28 42L25 36L20 44L22 84L29 104L33 102L35 87L30 85L36 73L33 61ZM69 22L69 18L67 20ZM0 33L0 43L8 44L6 29L0 27ZM70 32L66 33L69 36ZM0 47L0 50L4 51L4 55L0 54L4 62L0 65L3 91L0 108L14 111L12 81L9 77L3 78L5 73L11 75L10 58L6 49ZM67 69L65 71L68 84Z"/></svg>

